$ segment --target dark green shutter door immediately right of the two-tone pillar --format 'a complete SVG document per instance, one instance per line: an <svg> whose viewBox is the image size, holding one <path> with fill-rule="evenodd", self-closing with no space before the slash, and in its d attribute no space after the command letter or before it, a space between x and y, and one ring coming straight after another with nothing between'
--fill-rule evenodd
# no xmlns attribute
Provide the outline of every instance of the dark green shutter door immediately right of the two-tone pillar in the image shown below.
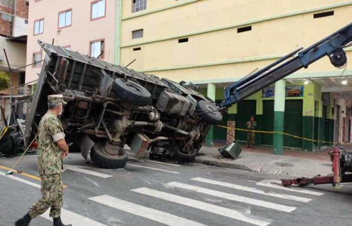
<svg viewBox="0 0 352 226"><path fill-rule="evenodd" d="M302 99L292 99L285 101L285 133L302 137L302 112ZM284 146L291 148L302 148L302 140L290 136L284 136Z"/></svg>

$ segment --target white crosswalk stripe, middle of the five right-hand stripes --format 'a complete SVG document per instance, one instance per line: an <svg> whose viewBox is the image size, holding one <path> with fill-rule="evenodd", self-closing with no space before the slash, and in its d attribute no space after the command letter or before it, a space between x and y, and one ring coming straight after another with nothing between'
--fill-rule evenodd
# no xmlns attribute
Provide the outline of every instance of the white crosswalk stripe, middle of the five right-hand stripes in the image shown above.
<svg viewBox="0 0 352 226"><path fill-rule="evenodd" d="M234 195L234 194L225 193L225 192L221 192L221 191L215 191L215 190L197 187L197 186L193 186L193 185L189 185L189 184L183 184L183 183L179 183L179 182L170 182L170 183L167 183L166 185L171 186L171 187L183 188L183 189L187 189L190 191L196 191L196 192L200 192L200 193L207 194L207 195L212 195L212 196L219 197L219 198L225 198L225 199L232 200L232 201L243 202L243 203L256 205L256 206L260 206L260 207L264 207L264 208L270 208L270 209L275 209L275 210L279 210L279 211L284 211L284 212L292 212L293 210L296 209L296 207L293 207L293 206L276 204L273 202L262 201L262 200L258 200L258 199L254 199L254 198L248 198L248 197L244 197L244 196L240 196L240 195Z"/></svg>

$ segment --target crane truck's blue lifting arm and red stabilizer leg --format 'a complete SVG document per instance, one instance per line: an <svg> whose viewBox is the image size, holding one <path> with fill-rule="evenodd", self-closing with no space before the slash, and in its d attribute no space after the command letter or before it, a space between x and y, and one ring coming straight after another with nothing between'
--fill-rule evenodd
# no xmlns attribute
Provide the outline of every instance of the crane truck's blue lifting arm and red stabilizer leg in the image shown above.
<svg viewBox="0 0 352 226"><path fill-rule="evenodd" d="M222 108L227 108L255 92L285 78L286 76L308 66L327 56L333 66L341 68L346 65L347 57L344 48L351 46L352 23L332 33L306 49L299 48L269 66L243 77L224 91ZM284 186L329 184L352 182L352 152L335 147L330 153L333 176L316 176L314 178L283 179Z"/></svg>

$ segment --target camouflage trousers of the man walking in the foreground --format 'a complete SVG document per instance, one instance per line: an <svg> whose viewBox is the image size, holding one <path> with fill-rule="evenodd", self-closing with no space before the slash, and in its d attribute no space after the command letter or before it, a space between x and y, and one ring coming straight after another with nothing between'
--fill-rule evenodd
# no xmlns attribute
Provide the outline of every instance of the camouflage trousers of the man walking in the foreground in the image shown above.
<svg viewBox="0 0 352 226"><path fill-rule="evenodd" d="M43 197L29 208L29 215L35 218L43 214L50 207L51 218L61 215L63 187L61 174L41 175L42 186L40 191Z"/></svg>

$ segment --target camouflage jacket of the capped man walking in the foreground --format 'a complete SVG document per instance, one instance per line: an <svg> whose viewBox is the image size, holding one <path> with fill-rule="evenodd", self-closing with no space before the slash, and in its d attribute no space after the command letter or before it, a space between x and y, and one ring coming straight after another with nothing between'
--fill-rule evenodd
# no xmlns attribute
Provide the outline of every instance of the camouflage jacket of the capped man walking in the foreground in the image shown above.
<svg viewBox="0 0 352 226"><path fill-rule="evenodd" d="M38 171L40 175L61 173L63 150L56 144L65 134L60 120L48 111L39 123Z"/></svg>

